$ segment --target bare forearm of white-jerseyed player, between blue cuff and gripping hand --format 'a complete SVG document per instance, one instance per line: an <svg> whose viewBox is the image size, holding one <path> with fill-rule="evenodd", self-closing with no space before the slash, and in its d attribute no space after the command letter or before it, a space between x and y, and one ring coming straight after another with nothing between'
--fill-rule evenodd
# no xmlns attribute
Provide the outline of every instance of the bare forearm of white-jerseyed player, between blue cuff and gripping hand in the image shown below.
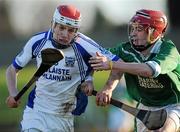
<svg viewBox="0 0 180 132"><path fill-rule="evenodd" d="M18 93L16 76L17 71L15 70L15 68L13 68L12 65L10 65L6 70L6 80L10 96L16 96L16 94Z"/></svg>

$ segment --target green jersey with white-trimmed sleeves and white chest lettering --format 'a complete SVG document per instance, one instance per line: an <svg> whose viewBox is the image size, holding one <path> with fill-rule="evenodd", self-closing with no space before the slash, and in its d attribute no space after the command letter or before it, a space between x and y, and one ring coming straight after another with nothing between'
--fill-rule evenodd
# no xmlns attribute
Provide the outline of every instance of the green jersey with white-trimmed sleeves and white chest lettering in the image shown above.
<svg viewBox="0 0 180 132"><path fill-rule="evenodd" d="M148 57L129 42L109 49L125 62L146 63L154 71L151 78L125 73L129 95L146 106L164 106L180 102L180 55L170 40L159 40Z"/></svg>

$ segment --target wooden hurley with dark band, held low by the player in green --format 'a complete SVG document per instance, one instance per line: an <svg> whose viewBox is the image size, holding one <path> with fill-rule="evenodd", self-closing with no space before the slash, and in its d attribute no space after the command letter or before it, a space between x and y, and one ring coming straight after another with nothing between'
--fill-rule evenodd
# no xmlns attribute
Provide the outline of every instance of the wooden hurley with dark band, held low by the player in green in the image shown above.
<svg viewBox="0 0 180 132"><path fill-rule="evenodd" d="M92 95L96 96L96 94L97 91L93 90ZM112 98L110 104L132 114L133 116L141 120L149 130L157 130L161 128L167 118L167 112L165 109L156 111L137 109Z"/></svg>

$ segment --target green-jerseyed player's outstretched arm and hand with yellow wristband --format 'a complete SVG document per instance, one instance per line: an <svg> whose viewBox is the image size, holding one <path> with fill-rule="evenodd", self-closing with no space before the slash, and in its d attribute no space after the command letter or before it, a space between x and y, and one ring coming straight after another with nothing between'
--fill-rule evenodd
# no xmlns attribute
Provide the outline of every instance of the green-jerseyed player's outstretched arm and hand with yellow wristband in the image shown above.
<svg viewBox="0 0 180 132"><path fill-rule="evenodd" d="M91 57L89 63L94 70L118 70L123 73L130 73L133 75L140 75L144 77L152 77L153 69L146 63L128 63L119 61L110 61L103 55Z"/></svg>

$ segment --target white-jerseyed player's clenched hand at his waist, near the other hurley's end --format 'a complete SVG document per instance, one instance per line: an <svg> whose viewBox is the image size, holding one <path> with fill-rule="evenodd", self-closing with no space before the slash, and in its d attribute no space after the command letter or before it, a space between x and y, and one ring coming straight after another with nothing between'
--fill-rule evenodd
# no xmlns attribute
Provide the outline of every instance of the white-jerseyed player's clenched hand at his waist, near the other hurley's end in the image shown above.
<svg viewBox="0 0 180 132"><path fill-rule="evenodd" d="M81 84L81 90L87 95L91 96L92 91L94 89L94 85L92 81L85 81Z"/></svg>

